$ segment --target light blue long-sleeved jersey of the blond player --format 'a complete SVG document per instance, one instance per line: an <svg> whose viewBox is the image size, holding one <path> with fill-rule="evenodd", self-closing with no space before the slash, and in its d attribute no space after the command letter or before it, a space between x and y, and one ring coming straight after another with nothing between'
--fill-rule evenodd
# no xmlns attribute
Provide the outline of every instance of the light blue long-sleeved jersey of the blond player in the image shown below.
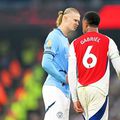
<svg viewBox="0 0 120 120"><path fill-rule="evenodd" d="M53 85L69 96L69 87L66 83L68 72L69 42L59 28L54 29L46 38L42 67L48 73L44 85Z"/></svg>

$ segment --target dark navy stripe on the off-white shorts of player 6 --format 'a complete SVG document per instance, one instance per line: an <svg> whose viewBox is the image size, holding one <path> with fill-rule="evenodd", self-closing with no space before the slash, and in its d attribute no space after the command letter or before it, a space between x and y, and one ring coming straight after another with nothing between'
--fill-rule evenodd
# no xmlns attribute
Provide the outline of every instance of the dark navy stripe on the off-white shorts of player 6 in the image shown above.
<svg viewBox="0 0 120 120"><path fill-rule="evenodd" d="M107 107L107 99L108 96L106 97L105 103L103 104L101 109L95 115L93 115L89 120L100 120L103 117Z"/></svg>

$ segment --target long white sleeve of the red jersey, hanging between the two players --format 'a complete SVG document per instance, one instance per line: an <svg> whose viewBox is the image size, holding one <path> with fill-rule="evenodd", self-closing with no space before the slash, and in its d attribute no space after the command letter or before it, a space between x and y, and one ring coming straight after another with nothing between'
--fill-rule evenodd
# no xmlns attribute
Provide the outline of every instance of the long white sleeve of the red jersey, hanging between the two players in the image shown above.
<svg viewBox="0 0 120 120"><path fill-rule="evenodd" d="M68 83L70 86L70 92L72 95L73 102L78 100L77 97L77 71L76 71L76 55L74 51L73 43L69 49L69 60L68 60Z"/></svg>

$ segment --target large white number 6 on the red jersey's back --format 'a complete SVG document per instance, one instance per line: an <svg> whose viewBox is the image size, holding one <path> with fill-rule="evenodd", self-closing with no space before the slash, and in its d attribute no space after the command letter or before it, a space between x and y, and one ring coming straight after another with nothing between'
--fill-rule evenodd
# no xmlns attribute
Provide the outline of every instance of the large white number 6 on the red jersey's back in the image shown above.
<svg viewBox="0 0 120 120"><path fill-rule="evenodd" d="M90 53L91 49L92 49L93 46L88 46L86 52L85 52L85 55L83 57L83 65L86 67L86 68L93 68L96 63L97 63L97 58L94 54ZM88 59L91 58L91 62L88 63Z"/></svg>

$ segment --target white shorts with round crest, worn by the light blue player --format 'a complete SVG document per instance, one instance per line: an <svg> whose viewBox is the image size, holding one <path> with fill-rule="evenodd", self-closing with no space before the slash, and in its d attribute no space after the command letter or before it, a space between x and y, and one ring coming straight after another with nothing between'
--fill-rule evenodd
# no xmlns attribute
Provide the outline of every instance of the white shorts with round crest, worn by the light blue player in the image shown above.
<svg viewBox="0 0 120 120"><path fill-rule="evenodd" d="M43 86L44 120L69 120L70 99L55 86Z"/></svg>

